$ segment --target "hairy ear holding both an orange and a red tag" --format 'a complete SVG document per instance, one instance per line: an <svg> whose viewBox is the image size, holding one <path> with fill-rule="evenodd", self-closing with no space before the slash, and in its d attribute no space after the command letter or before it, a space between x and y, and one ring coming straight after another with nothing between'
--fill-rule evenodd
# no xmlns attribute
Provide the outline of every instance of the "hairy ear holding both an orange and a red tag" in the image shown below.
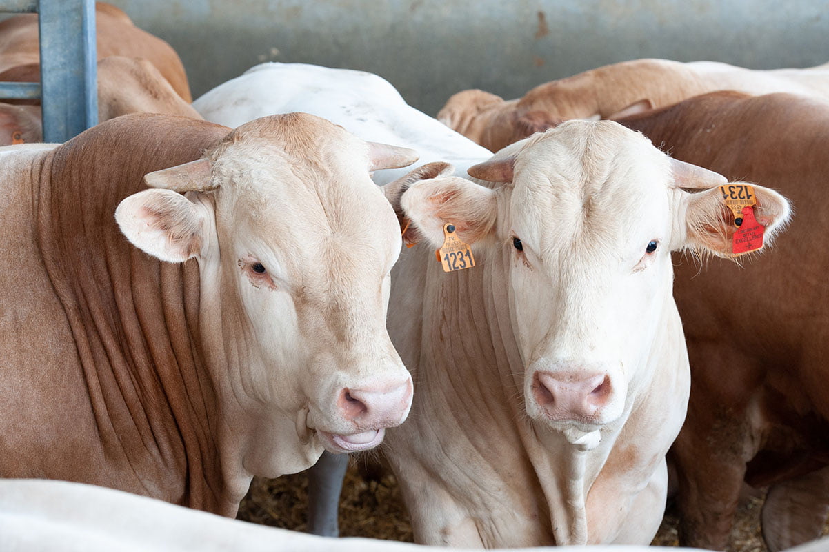
<svg viewBox="0 0 829 552"><path fill-rule="evenodd" d="M764 245L770 245L791 218L792 208L777 191L756 184L751 186L757 199L754 217L765 227ZM682 194L686 202L686 238L684 244L673 249L686 247L726 259L733 258L734 232L738 227L734 225L734 213L725 206L720 188L698 193L683 191Z"/></svg>

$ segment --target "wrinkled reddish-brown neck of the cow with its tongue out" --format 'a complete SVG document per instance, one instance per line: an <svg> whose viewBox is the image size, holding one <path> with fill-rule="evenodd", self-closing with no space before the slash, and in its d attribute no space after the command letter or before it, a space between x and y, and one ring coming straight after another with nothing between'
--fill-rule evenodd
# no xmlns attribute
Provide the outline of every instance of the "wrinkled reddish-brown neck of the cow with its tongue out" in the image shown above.
<svg viewBox="0 0 829 552"><path fill-rule="evenodd" d="M105 457L151 496L222 511L198 267L149 257L114 220L119 201L146 187L145 173L195 160L227 132L184 121L127 116L49 153L33 181L37 245L75 339Z"/></svg>

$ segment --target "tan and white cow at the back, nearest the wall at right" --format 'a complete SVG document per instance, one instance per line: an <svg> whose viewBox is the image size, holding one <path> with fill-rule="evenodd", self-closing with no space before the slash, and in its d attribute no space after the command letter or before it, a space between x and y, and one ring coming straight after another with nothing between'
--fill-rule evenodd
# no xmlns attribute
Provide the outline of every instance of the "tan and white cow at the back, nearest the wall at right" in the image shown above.
<svg viewBox="0 0 829 552"><path fill-rule="evenodd" d="M497 152L567 119L614 119L714 90L829 99L829 64L749 70L715 61L623 61L536 86L521 99L505 101L483 90L463 90L448 99L438 119Z"/></svg>

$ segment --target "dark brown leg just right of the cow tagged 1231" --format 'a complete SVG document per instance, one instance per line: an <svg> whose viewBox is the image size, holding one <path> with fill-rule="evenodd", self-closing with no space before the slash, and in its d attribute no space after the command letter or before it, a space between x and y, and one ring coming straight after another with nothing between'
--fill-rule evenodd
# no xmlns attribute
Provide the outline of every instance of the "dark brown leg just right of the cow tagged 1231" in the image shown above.
<svg viewBox="0 0 829 552"><path fill-rule="evenodd" d="M725 550L743 487L745 461L736 451L710 448L705 436L691 443L687 437L681 433L671 449L679 483L680 545Z"/></svg>

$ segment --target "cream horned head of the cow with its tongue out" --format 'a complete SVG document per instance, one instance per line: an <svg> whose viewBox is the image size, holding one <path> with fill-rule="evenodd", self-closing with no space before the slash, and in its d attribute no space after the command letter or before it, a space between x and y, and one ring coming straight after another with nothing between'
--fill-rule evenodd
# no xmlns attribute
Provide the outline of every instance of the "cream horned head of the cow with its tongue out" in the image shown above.
<svg viewBox="0 0 829 552"><path fill-rule="evenodd" d="M243 410L289 420L305 443L371 448L409 411L410 375L385 330L400 227L370 171L416 157L312 115L274 115L200 161L148 174L166 189L116 213L149 254L197 259L201 326L225 359L214 376Z"/></svg>

